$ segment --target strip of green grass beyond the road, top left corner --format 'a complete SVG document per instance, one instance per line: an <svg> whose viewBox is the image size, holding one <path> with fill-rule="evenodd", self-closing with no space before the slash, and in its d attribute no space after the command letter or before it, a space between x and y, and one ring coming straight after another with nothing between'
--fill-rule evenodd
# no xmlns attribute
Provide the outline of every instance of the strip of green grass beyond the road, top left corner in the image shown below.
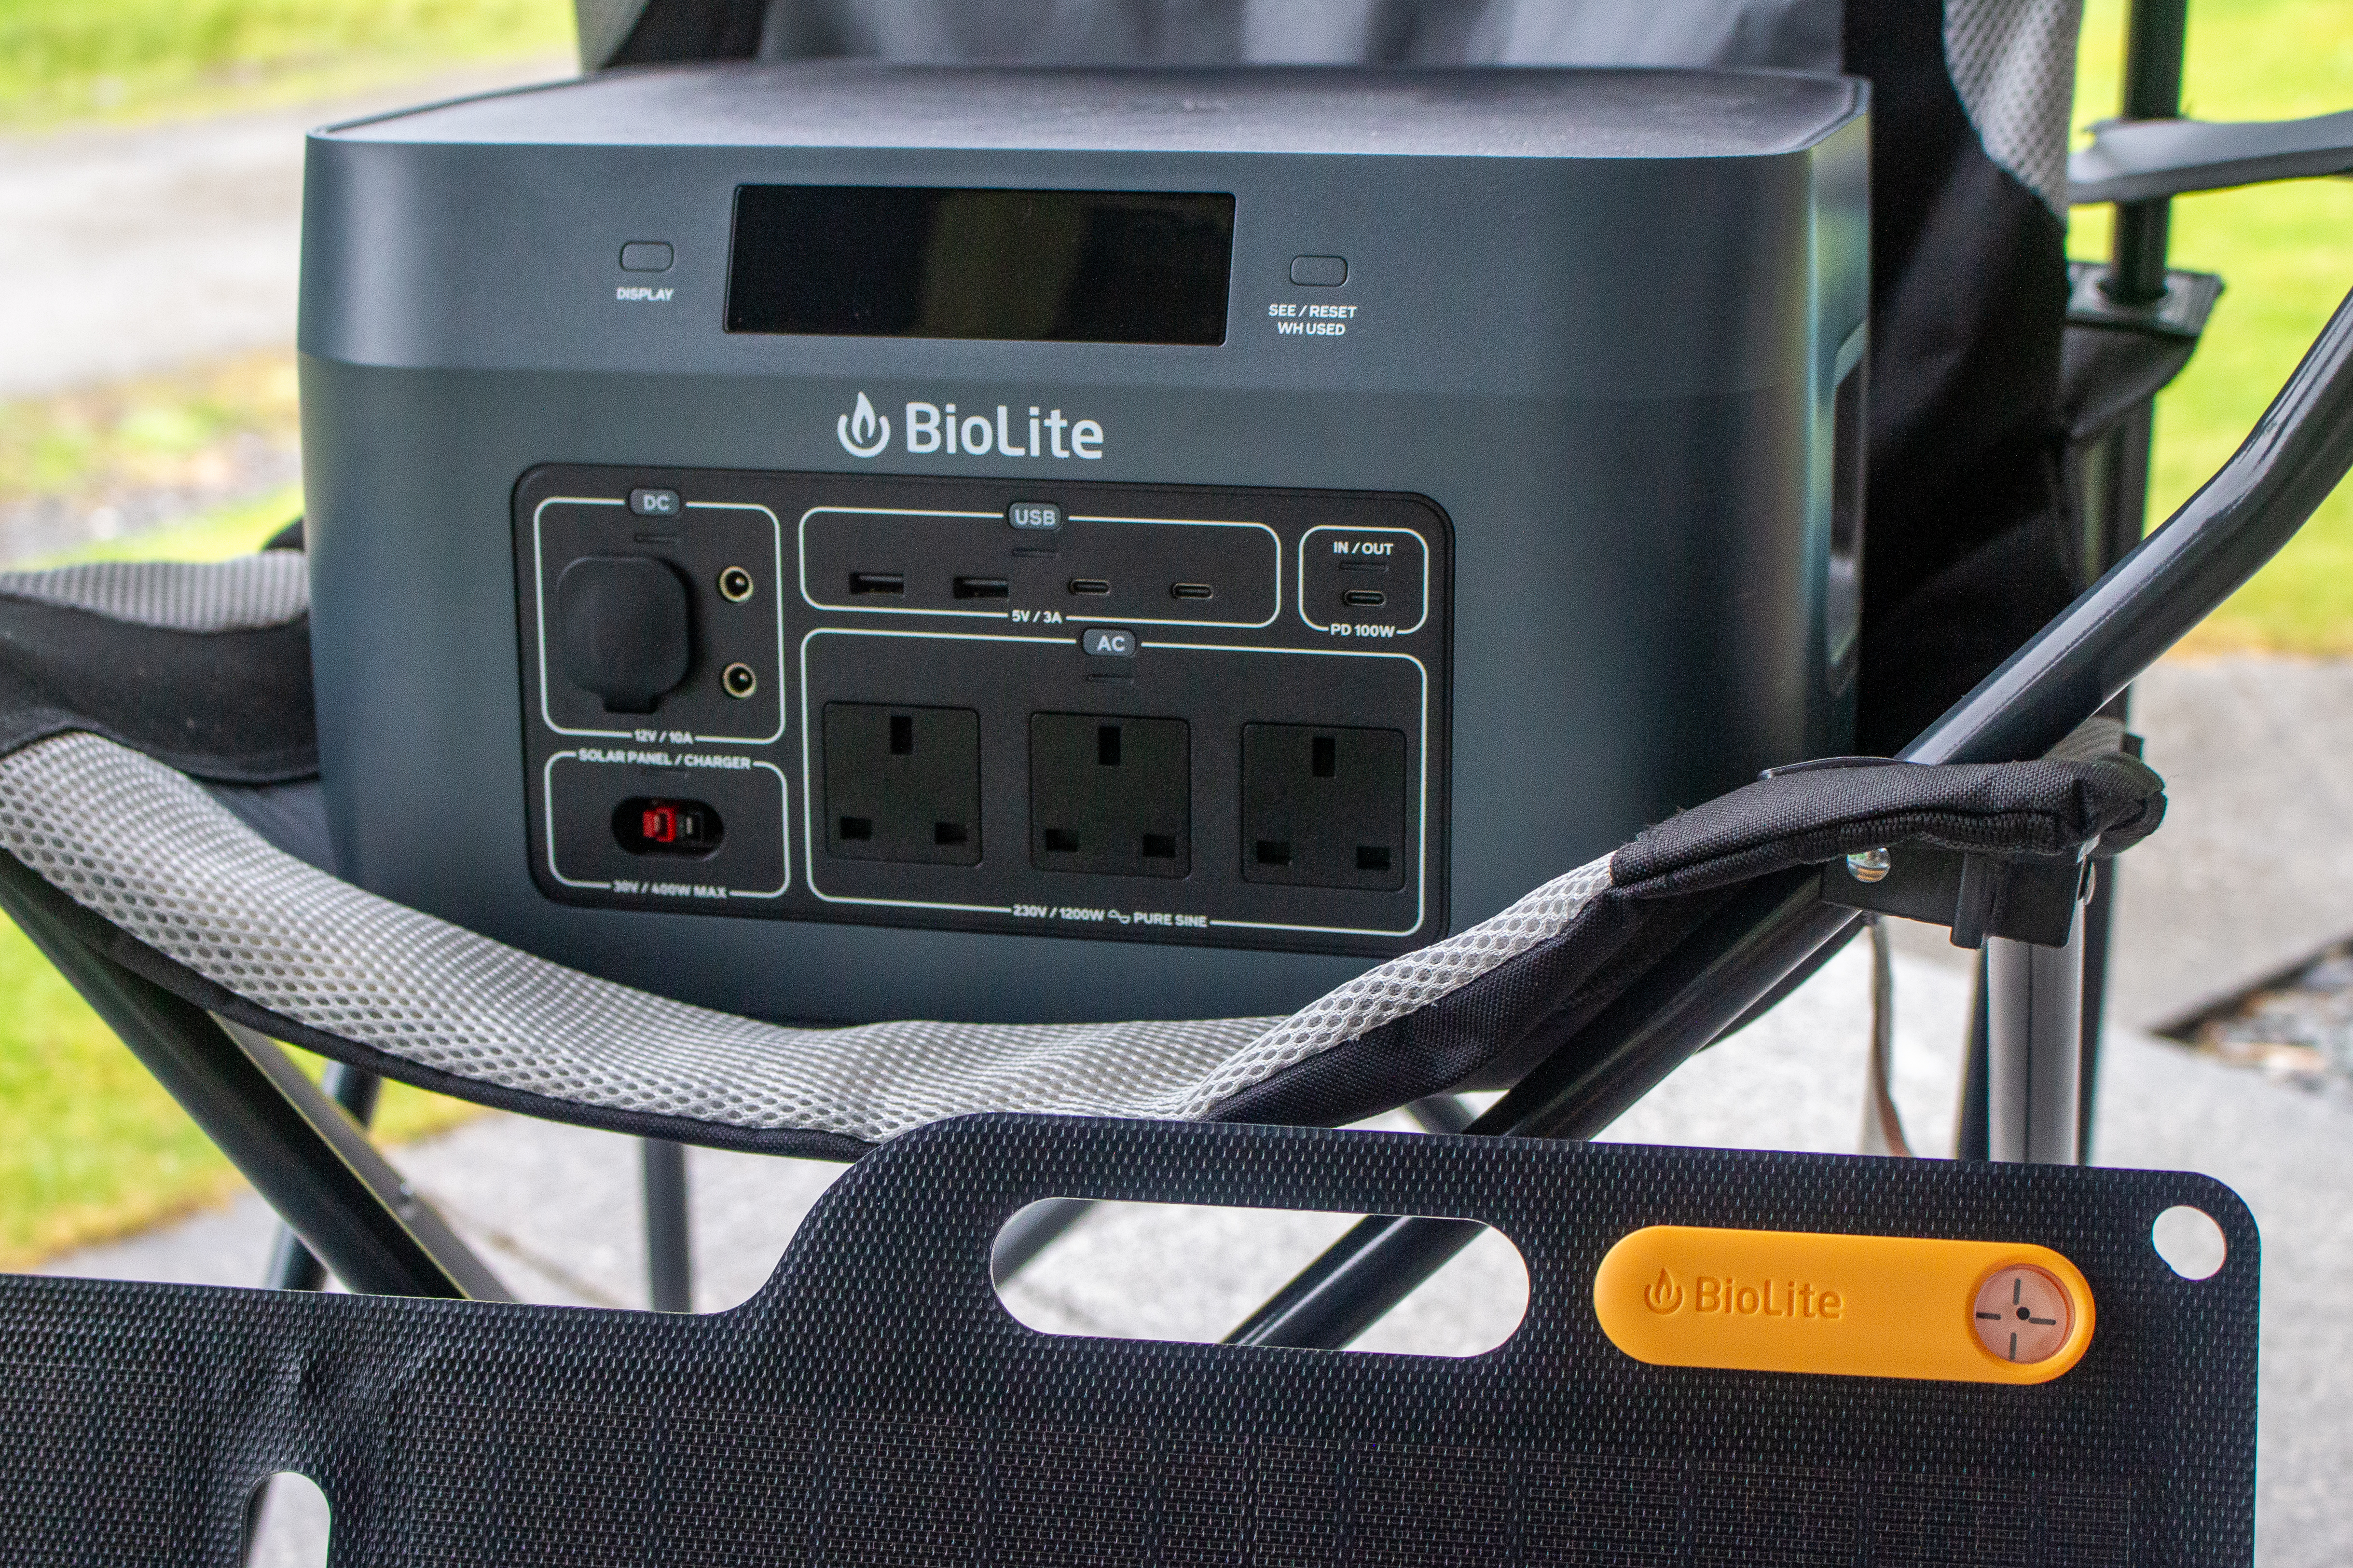
<svg viewBox="0 0 2353 1568"><path fill-rule="evenodd" d="M5 0L0 127L365 92L572 49L565 0Z"/></svg>

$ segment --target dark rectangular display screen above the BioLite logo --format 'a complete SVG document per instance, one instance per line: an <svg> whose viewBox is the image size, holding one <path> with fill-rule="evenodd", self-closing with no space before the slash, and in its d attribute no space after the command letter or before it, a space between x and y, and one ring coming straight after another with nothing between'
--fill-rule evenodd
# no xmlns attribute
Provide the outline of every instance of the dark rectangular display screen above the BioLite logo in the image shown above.
<svg viewBox="0 0 2353 1568"><path fill-rule="evenodd" d="M736 186L727 331L1226 341L1233 197Z"/></svg>

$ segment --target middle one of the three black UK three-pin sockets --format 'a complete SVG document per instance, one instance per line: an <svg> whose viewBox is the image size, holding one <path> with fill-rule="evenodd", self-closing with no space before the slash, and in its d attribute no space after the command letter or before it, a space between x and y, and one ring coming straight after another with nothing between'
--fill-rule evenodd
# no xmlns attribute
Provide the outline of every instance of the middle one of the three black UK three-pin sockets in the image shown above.
<svg viewBox="0 0 2353 1568"><path fill-rule="evenodd" d="M1193 870L1193 733L1184 719L1031 715L1031 863L1049 872Z"/></svg>

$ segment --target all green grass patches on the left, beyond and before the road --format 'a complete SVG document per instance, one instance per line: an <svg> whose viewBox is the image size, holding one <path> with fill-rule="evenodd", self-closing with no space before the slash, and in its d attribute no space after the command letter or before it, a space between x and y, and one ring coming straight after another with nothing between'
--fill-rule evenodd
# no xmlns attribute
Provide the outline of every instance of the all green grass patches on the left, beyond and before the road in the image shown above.
<svg viewBox="0 0 2353 1568"><path fill-rule="evenodd" d="M569 47L565 0L0 0L0 129L261 108ZM202 487L231 444L252 437L294 440L289 353L19 402L0 409L0 503L94 505L144 487ZM219 559L256 548L299 510L287 487L71 559ZM388 1084L376 1128L400 1143L473 1114ZM0 1269L240 1187L96 1013L0 922Z"/></svg>

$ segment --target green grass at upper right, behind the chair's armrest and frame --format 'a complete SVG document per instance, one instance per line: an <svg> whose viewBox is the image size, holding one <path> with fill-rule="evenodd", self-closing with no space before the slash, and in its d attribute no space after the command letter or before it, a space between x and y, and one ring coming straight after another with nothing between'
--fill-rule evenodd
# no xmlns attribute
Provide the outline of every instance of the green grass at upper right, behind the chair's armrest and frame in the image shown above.
<svg viewBox="0 0 2353 1568"><path fill-rule="evenodd" d="M2115 113L2122 0L2085 7L2075 125ZM2191 0L2184 113L2285 120L2353 108L2353 5L2346 0ZM2075 256L2106 256L2108 209L2085 207ZM2198 357L2158 397L2148 515L2162 522L2231 456L2353 289L2353 181L2217 190L2174 202L2172 261L2221 273L2228 292ZM2233 595L2184 651L2353 654L2353 487L2339 484L2304 531Z"/></svg>

